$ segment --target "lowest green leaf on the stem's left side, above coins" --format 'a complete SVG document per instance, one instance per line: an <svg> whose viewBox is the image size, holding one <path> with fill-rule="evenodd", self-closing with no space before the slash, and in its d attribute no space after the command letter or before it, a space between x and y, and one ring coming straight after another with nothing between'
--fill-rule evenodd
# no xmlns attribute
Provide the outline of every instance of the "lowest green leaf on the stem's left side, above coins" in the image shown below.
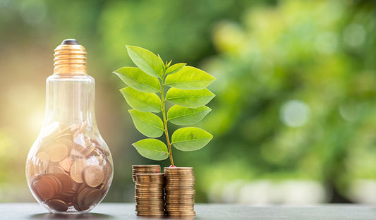
<svg viewBox="0 0 376 220"><path fill-rule="evenodd" d="M147 138L132 144L142 157L154 160L164 160L169 157L169 152L164 142Z"/></svg>

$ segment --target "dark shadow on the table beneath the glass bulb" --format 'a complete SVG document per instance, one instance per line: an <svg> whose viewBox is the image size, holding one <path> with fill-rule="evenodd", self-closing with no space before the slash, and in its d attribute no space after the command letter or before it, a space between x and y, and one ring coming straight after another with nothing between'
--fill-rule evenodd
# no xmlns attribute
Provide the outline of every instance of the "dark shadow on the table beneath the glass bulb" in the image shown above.
<svg viewBox="0 0 376 220"><path fill-rule="evenodd" d="M42 213L33 214L30 219L112 219L113 216L99 213L84 213L84 214L52 214Z"/></svg>

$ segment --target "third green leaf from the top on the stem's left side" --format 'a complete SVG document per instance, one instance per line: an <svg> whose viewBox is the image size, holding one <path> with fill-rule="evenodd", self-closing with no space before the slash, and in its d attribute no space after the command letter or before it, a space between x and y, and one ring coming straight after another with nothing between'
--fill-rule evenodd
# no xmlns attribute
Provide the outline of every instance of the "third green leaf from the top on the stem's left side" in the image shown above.
<svg viewBox="0 0 376 220"><path fill-rule="evenodd" d="M159 112L162 111L161 99L157 94L139 92L132 87L128 86L120 90L123 94L126 102L138 111L152 111Z"/></svg>

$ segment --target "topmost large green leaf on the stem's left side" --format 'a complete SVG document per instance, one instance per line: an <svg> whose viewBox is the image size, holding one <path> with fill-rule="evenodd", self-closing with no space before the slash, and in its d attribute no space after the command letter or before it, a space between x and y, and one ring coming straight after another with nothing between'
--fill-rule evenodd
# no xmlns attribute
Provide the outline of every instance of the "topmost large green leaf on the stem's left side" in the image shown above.
<svg viewBox="0 0 376 220"><path fill-rule="evenodd" d="M133 63L142 71L157 78L163 75L164 67L161 65L158 56L153 54L152 51L136 46L126 47Z"/></svg>

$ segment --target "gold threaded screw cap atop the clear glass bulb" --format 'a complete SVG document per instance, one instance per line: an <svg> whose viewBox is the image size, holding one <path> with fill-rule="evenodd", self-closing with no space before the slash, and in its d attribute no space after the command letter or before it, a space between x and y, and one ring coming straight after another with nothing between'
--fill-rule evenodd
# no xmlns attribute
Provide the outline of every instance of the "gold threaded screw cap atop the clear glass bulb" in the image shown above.
<svg viewBox="0 0 376 220"><path fill-rule="evenodd" d="M87 74L86 49L75 39L64 39L54 51L54 74Z"/></svg>

